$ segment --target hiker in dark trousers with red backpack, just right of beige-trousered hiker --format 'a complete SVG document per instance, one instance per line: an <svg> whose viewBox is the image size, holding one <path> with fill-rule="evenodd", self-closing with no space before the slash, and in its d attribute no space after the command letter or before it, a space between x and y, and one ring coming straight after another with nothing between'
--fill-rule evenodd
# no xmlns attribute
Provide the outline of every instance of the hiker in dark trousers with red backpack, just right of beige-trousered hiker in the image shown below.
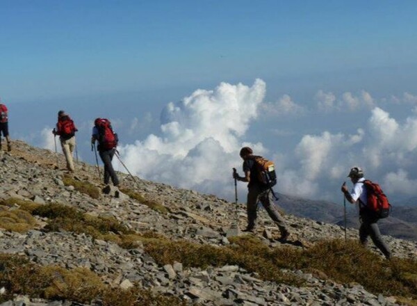
<svg viewBox="0 0 417 306"><path fill-rule="evenodd" d="M113 127L111 127L111 122L108 119L97 118L95 120L94 127L92 128L92 146L95 145L96 140L99 143L99 145L97 146L97 150L99 151L101 161L103 161L104 163L104 184L108 185L108 182L111 178L113 185L118 186L119 179L116 175L115 170L113 169L111 161L113 160L113 156L115 155L119 138L117 137L117 134L113 131Z"/></svg>

